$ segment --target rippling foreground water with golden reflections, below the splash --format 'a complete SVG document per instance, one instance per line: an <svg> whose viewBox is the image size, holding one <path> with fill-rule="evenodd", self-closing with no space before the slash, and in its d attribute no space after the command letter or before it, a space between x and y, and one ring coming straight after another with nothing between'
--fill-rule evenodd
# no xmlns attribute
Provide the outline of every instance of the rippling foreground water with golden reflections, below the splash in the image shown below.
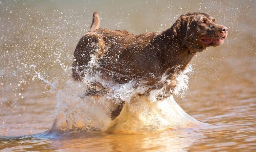
<svg viewBox="0 0 256 152"><path fill-rule="evenodd" d="M21 148L47 151L253 151L255 137L246 136L249 132L249 129L241 125L218 125L199 129L144 131L136 134L74 133L56 137L53 135L52 138L40 134L1 138L0 143L5 147L4 150L12 151Z"/></svg>

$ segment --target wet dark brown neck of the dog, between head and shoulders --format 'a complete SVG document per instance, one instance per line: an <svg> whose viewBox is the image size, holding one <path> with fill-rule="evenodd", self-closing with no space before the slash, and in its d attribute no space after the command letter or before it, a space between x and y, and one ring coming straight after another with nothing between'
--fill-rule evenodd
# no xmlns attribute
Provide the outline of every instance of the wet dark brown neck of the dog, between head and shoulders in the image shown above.
<svg viewBox="0 0 256 152"><path fill-rule="evenodd" d="M180 66L179 69L183 70L195 55L188 47L182 45L180 38L173 33L173 27L159 34L152 45L163 58L166 69Z"/></svg>

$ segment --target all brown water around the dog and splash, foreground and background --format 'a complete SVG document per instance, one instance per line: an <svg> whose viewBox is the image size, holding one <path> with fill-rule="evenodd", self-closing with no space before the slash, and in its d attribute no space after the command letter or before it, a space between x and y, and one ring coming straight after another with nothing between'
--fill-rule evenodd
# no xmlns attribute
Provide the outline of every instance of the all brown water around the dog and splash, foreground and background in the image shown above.
<svg viewBox="0 0 256 152"><path fill-rule="evenodd" d="M186 113L207 125L115 133L45 132L63 100L72 105L73 96L68 95L75 87L65 91L72 55L94 11L99 12L102 27L135 34L167 29L186 12L210 14L228 28L223 45L193 58L188 89L174 96ZM0 150L256 151L255 15L254 0L0 0ZM192 120L190 116L184 115Z"/></svg>

